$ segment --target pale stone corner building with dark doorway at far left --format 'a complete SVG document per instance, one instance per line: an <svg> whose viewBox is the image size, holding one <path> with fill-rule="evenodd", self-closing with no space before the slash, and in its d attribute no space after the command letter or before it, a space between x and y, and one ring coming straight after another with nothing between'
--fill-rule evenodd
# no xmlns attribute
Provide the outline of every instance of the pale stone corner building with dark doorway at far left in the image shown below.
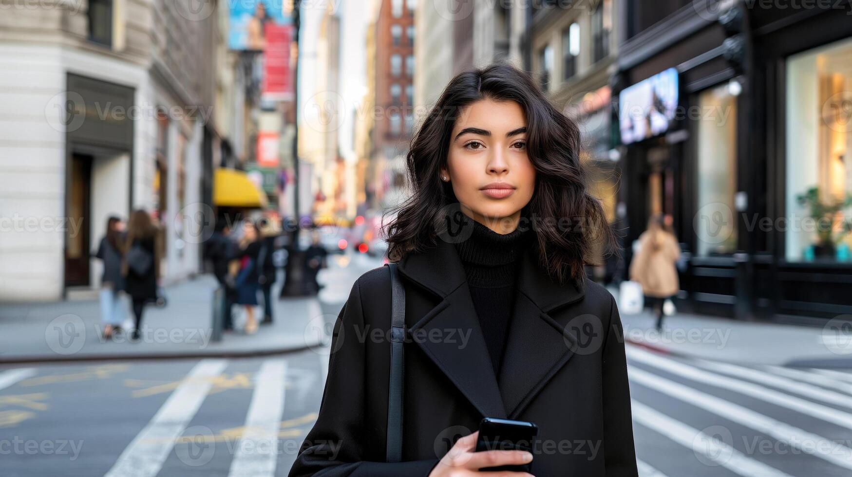
<svg viewBox="0 0 852 477"><path fill-rule="evenodd" d="M136 208L164 227L166 281L199 270L188 217L212 175L211 13L152 0L3 10L0 300L97 287L107 217Z"/></svg>

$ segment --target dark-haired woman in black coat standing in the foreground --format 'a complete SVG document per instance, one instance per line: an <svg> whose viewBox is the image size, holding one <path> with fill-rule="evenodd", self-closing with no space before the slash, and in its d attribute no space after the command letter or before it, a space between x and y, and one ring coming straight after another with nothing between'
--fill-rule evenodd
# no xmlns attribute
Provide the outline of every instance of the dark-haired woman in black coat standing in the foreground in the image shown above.
<svg viewBox="0 0 852 477"><path fill-rule="evenodd" d="M337 317L292 476L529 475L478 472L528 462L473 452L483 417L538 425L532 474L637 475L618 309L584 274L612 232L579 151L577 125L527 73L452 79L412 140L412 191L388 228L406 295L402 462L386 462L391 282L378 267Z"/></svg>

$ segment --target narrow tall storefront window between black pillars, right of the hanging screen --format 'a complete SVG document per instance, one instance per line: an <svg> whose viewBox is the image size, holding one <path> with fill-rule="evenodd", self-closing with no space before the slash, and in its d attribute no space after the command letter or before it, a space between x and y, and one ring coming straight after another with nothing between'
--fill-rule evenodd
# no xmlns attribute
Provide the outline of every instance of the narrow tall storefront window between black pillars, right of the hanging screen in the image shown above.
<svg viewBox="0 0 852 477"><path fill-rule="evenodd" d="M699 95L698 216L699 256L734 253L737 230L737 101L726 83Z"/></svg>

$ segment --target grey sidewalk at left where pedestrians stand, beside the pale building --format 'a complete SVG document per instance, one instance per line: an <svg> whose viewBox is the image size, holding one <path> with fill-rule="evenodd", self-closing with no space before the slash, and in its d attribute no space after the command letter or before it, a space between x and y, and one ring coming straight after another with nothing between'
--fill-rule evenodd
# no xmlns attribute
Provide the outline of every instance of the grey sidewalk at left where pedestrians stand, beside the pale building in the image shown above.
<svg viewBox="0 0 852 477"><path fill-rule="evenodd" d="M167 287L166 307L146 307L139 342L129 342L128 334L105 341L97 300L0 304L0 363L252 356L320 344L319 331L334 323L339 307L325 306L324 314L316 297L280 300L278 288L273 290L272 325L260 326L255 335L224 333L221 342L210 341L216 289L210 275Z"/></svg>

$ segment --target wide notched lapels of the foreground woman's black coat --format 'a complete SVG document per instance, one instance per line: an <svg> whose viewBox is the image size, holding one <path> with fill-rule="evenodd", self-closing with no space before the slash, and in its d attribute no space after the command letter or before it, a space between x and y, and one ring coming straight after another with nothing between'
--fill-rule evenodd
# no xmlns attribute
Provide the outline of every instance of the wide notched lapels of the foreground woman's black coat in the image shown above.
<svg viewBox="0 0 852 477"><path fill-rule="evenodd" d="M413 318L414 341L483 417L520 415L573 355L576 340L549 312L579 301L583 291L551 280L538 267L535 250L531 246L521 256L499 381L455 246L439 239L435 247L409 254L399 264L406 279L440 297L422 318Z"/></svg>

